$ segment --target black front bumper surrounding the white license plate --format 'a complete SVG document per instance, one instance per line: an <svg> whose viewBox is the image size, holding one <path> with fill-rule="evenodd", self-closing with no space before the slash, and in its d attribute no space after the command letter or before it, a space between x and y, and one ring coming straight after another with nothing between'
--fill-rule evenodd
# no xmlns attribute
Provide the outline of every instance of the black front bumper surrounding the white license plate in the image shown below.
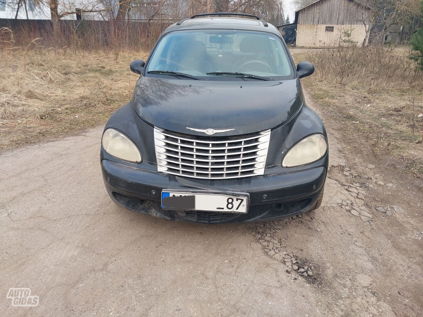
<svg viewBox="0 0 423 317"><path fill-rule="evenodd" d="M205 224L273 221L304 213L316 205L327 171L322 166L228 180L184 178L188 182L181 183L175 175L130 167L107 159L103 159L101 165L107 192L118 205L160 218ZM165 210L161 206L162 189L246 192L250 194L249 208L246 214Z"/></svg>

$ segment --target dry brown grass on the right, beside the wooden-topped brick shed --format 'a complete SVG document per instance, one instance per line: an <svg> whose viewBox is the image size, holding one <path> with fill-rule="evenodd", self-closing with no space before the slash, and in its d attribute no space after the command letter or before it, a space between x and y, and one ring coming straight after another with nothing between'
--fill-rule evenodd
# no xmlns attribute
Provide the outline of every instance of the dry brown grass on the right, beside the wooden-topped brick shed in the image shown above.
<svg viewBox="0 0 423 317"><path fill-rule="evenodd" d="M324 49L297 56L316 66L303 80L311 96L347 134L376 155L423 175L423 74L407 50L387 47Z"/></svg>

